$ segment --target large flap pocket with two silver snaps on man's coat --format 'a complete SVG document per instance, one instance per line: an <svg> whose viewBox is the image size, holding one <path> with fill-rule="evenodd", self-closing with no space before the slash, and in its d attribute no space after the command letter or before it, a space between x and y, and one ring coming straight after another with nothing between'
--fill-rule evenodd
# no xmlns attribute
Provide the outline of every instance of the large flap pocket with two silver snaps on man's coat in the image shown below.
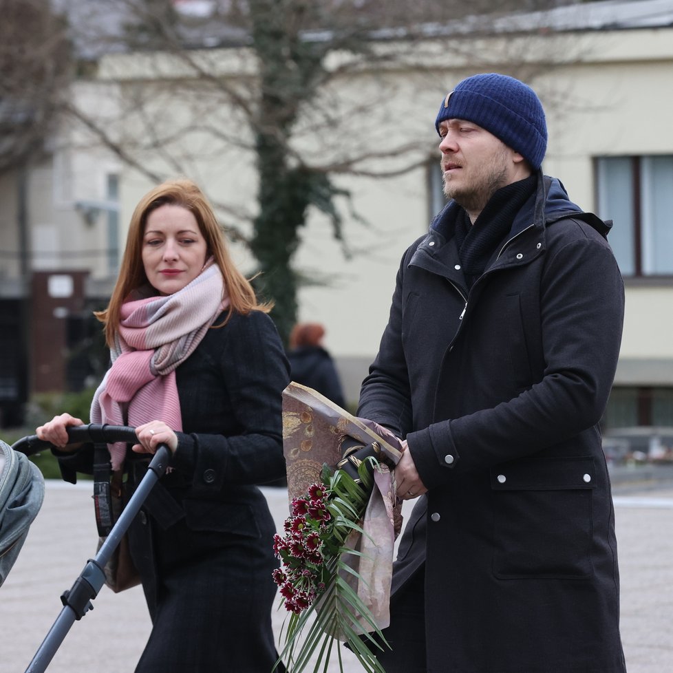
<svg viewBox="0 0 673 673"><path fill-rule="evenodd" d="M591 456L532 458L491 468L493 575L590 577L594 482Z"/></svg>

